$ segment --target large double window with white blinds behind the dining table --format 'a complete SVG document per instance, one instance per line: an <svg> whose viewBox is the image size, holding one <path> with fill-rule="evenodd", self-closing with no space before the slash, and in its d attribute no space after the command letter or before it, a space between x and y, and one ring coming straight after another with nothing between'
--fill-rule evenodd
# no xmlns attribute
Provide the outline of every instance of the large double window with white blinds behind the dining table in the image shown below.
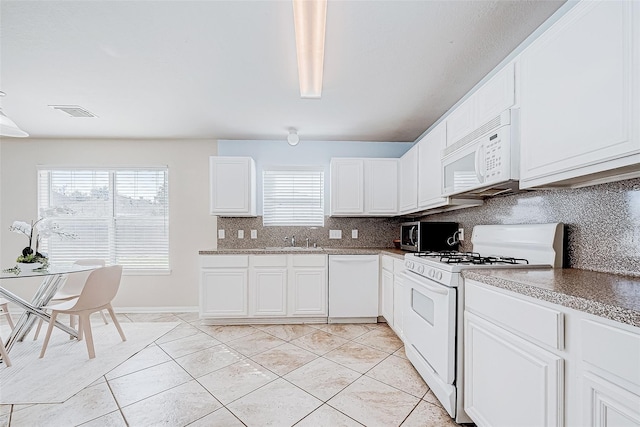
<svg viewBox="0 0 640 427"><path fill-rule="evenodd" d="M68 208L54 221L75 239L41 242L52 263L99 258L128 272L169 272L167 168L38 171L39 212Z"/></svg>

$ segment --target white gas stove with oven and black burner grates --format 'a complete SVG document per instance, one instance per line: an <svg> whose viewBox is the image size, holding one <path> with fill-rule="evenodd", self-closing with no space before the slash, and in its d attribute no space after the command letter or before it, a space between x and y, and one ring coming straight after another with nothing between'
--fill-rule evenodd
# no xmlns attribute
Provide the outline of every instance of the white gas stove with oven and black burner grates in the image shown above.
<svg viewBox="0 0 640 427"><path fill-rule="evenodd" d="M407 357L458 423L463 409L462 270L561 267L562 224L478 225L474 252L405 255L403 331Z"/></svg>

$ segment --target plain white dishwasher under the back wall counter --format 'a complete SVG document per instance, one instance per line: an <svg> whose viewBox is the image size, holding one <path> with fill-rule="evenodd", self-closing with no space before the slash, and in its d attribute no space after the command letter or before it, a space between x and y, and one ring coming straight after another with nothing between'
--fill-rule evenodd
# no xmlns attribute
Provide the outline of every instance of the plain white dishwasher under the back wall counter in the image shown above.
<svg viewBox="0 0 640 427"><path fill-rule="evenodd" d="M379 255L329 255L329 323L378 320Z"/></svg>

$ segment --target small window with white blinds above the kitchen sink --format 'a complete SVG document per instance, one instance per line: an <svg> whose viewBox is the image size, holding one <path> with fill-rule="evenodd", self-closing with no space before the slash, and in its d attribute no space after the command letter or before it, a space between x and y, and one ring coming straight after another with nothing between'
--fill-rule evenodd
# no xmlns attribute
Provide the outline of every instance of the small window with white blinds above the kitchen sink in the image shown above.
<svg viewBox="0 0 640 427"><path fill-rule="evenodd" d="M263 225L324 226L324 172L300 168L265 170Z"/></svg>

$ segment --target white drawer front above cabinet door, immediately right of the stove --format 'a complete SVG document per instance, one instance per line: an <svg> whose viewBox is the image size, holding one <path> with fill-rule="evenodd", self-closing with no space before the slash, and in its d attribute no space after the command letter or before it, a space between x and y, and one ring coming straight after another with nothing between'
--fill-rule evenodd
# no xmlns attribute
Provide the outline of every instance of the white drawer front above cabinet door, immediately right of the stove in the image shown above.
<svg viewBox="0 0 640 427"><path fill-rule="evenodd" d="M465 298L466 310L549 347L563 349L564 319L560 311L487 289L470 280L466 281Z"/></svg>

